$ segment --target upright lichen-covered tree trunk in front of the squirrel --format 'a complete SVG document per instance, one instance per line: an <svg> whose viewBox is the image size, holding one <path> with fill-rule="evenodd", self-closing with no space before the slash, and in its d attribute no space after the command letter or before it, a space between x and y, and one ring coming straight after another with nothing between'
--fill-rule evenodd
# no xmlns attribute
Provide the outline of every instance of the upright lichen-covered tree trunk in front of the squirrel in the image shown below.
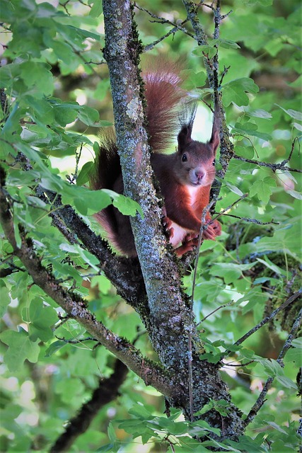
<svg viewBox="0 0 302 453"><path fill-rule="evenodd" d="M180 287L180 272L175 258L165 251L160 228L161 212L151 180L149 149L144 129L139 62L139 42L128 1L103 1L105 58L110 71L117 146L120 150L125 195L140 202L144 219L132 220L137 253L148 297L149 323L146 326L153 348L166 369L173 370L182 386L172 406L183 408L187 418L210 398L230 402L230 415L221 418L209 411L204 418L221 428L222 437L236 438L242 432L240 411L232 406L219 365L199 360L202 345L192 323L190 302ZM189 379L188 355L192 343L192 376ZM189 398L192 389L192 401Z"/></svg>

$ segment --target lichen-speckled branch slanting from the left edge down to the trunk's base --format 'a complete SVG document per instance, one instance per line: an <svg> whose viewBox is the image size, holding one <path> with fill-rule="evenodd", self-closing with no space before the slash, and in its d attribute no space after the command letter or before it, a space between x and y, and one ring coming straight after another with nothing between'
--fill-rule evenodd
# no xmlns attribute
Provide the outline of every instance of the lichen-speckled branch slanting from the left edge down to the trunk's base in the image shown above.
<svg viewBox="0 0 302 453"><path fill-rule="evenodd" d="M18 256L28 270L33 282L43 289L54 302L57 302L72 319L75 319L81 326L85 327L115 357L141 377L147 385L152 385L161 393L170 396L173 386L170 386L170 379L165 375L163 369L158 367L155 362L151 362L141 355L141 352L128 343L127 340L115 335L103 323L97 321L91 311L86 308L86 301L81 299L79 294L67 291L62 287L54 276L41 265L40 258L35 253L32 244L25 239L25 234L22 232L21 247L17 246L11 212L12 207L8 203L5 192L1 187L0 222L4 229L4 234L13 247L13 253Z"/></svg>

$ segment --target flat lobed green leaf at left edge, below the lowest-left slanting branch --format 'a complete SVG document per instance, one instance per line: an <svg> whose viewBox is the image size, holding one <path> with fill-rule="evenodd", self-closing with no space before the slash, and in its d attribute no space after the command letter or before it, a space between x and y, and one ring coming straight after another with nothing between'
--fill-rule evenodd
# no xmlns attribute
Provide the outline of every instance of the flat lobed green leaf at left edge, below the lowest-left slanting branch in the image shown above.
<svg viewBox="0 0 302 453"><path fill-rule="evenodd" d="M1 341L8 345L4 355L4 362L11 372L16 372L23 367L25 360L35 363L40 352L37 343L30 340L28 333L23 328L19 331L4 331L1 333Z"/></svg>

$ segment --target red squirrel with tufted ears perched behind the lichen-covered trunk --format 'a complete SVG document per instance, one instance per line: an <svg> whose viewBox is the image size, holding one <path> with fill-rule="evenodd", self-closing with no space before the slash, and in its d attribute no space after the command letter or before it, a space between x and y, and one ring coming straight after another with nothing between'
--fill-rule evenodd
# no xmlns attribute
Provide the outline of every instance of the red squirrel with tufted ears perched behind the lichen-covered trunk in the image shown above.
<svg viewBox="0 0 302 453"><path fill-rule="evenodd" d="M202 226L203 210L209 204L211 184L215 178L215 155L219 147L217 109L211 139L206 144L191 138L196 103L192 103L180 85L182 79L176 67L158 68L143 74L146 96L146 120L151 166L158 180L164 200L164 224L169 241L178 256L192 250ZM178 149L164 154L178 132ZM100 137L100 151L96 157L91 188L107 188L123 193L120 157L117 154L115 132L106 129ZM129 217L112 205L95 218L103 226L108 241L123 255L134 257L137 251ZM221 234L221 224L211 222L207 212L204 239L215 239ZM211 224L209 224L211 222ZM181 245L180 245L181 244Z"/></svg>

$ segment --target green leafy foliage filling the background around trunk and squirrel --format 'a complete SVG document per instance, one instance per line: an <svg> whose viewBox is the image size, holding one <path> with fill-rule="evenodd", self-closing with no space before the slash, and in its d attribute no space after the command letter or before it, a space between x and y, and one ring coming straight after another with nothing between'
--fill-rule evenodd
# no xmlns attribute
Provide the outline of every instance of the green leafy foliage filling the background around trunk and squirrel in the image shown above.
<svg viewBox="0 0 302 453"><path fill-rule="evenodd" d="M194 42L178 31L152 52L173 59L186 55L186 88L208 102L210 90L200 66L202 57L214 57L218 48L221 93L236 159L221 180L216 204L217 213L226 210L223 234L218 241L204 241L200 252L194 314L204 341L201 357L211 363L222 360L223 379L245 416L270 377L272 388L246 435L222 443L210 440L209 432L219 433L204 420L190 423L175 410L163 415L163 398L129 373L119 398L100 409L72 452L139 452L141 444L150 445L146 451L151 452L157 443L175 452L206 452L208 447L282 452L298 445L301 339L291 343L284 366L277 361L298 315L298 302L280 312L269 329L257 331L244 345L234 343L298 291L301 173L255 161L272 165L290 159L288 166L298 167L300 6L298 0L221 4L224 14L230 8L233 13L223 20L219 40L194 49ZM170 2L150 5L142 0L139 6L173 23L185 18L182 6L171 11ZM209 12L202 6L199 15L211 35ZM146 12L136 13L144 45L172 28L168 21L151 23ZM86 187L98 128L112 123L108 71L100 64L102 4L69 1L55 7L52 2L4 1L1 23L1 167L17 246L24 229L42 265L66 290L85 298L96 319L153 357L139 316L116 294L102 263L76 240L69 243L49 215L57 210L58 198L94 229L92 215L112 202L124 214L141 212L133 200ZM57 194L54 199L51 193ZM248 197L243 199L243 194ZM33 285L2 232L1 249L1 451L45 451L99 379L110 377L114 357ZM190 272L184 285L192 294ZM201 413L210 408L225 415L228 404L210 401ZM201 443L197 435L203 437Z"/></svg>

